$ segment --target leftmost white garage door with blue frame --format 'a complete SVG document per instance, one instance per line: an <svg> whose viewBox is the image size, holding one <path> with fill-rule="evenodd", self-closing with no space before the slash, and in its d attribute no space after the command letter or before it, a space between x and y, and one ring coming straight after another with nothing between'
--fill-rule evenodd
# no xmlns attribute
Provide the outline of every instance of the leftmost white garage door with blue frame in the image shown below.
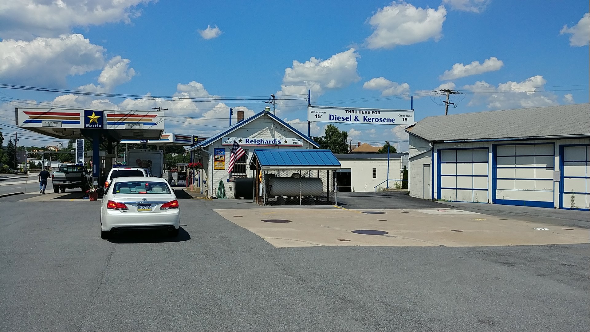
<svg viewBox="0 0 590 332"><path fill-rule="evenodd" d="M438 197L488 203L487 148L438 150Z"/></svg>

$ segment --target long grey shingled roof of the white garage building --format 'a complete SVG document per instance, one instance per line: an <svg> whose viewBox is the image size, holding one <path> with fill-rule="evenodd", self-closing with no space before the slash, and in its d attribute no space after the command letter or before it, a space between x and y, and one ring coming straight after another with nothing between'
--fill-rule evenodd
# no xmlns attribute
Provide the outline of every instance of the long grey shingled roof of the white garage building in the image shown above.
<svg viewBox="0 0 590 332"><path fill-rule="evenodd" d="M429 116L406 131L427 141L590 136L590 104Z"/></svg>

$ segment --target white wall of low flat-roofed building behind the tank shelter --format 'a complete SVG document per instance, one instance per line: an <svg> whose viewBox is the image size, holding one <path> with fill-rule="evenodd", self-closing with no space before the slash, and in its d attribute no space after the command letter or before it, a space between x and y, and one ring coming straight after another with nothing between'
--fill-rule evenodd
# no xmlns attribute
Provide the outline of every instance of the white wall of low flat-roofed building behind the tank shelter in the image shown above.
<svg viewBox="0 0 590 332"><path fill-rule="evenodd" d="M352 191L375 191L375 186L386 187L387 180L387 159L358 159L339 160L342 168L350 168L350 185ZM376 168L377 175L373 178L373 168ZM401 180L401 159L391 158L389 160L389 178ZM389 181L389 188L394 188L395 181ZM399 181L401 184L401 181Z"/></svg>

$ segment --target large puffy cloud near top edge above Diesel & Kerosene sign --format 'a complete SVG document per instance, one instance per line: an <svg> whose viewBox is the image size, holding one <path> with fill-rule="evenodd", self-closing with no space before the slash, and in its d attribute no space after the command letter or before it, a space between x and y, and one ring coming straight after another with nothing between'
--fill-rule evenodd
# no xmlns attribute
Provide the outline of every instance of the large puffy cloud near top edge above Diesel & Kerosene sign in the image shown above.
<svg viewBox="0 0 590 332"><path fill-rule="evenodd" d="M379 9L369 18L373 34L366 38L368 48L393 48L442 38L442 23L447 9L444 6L416 8L405 2L394 1Z"/></svg>

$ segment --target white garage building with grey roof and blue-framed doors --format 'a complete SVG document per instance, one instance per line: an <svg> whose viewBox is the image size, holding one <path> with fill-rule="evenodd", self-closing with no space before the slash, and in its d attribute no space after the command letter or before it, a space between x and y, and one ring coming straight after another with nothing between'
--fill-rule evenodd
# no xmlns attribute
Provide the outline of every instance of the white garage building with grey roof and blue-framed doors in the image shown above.
<svg viewBox="0 0 590 332"><path fill-rule="evenodd" d="M590 104L431 116L409 134L409 194L590 209Z"/></svg>

